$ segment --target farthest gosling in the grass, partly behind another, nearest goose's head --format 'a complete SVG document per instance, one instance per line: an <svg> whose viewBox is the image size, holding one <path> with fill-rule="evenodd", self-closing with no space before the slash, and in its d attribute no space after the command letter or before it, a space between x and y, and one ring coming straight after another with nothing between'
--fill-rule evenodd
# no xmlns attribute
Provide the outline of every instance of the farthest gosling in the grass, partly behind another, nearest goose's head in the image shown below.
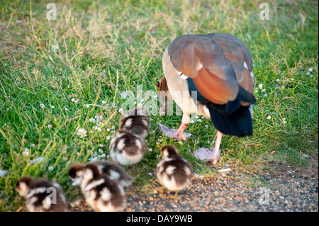
<svg viewBox="0 0 319 226"><path fill-rule="evenodd" d="M144 139L150 131L150 118L145 108L134 108L121 119L120 129L128 130Z"/></svg>

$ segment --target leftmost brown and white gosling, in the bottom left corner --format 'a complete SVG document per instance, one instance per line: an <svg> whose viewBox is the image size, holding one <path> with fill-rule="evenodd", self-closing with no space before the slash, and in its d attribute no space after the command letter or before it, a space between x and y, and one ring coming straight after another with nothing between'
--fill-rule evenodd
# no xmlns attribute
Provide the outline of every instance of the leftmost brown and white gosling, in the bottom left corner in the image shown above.
<svg viewBox="0 0 319 226"><path fill-rule="evenodd" d="M26 198L30 212L66 212L67 200L58 183L23 176L16 182L19 195Z"/></svg>

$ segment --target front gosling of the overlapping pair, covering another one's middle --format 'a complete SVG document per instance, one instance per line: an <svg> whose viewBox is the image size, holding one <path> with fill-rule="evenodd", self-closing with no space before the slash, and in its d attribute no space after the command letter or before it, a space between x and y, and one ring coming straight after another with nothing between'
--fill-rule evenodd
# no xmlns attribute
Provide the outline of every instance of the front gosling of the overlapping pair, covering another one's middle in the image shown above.
<svg viewBox="0 0 319 226"><path fill-rule="evenodd" d="M126 207L124 188L117 181L100 174L96 164L86 164L80 187L86 203L96 211L116 212Z"/></svg>

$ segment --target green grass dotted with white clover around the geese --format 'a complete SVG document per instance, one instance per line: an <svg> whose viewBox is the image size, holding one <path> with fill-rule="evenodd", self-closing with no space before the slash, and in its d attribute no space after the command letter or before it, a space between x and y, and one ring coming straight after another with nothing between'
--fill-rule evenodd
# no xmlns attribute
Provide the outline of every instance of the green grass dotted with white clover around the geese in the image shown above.
<svg viewBox="0 0 319 226"><path fill-rule="evenodd" d="M23 203L15 183L27 174L59 182L68 200L81 196L70 186L69 167L99 156L99 149L108 154L125 101L118 91L136 95L138 85L157 91L164 48L186 33L230 33L252 52L254 135L223 137L217 167L253 170L272 159L306 166L303 154L318 158L318 2L270 1L269 21L259 19L261 3L55 1L57 20L48 21L46 1L0 1L0 170L8 172L0 177L0 210ZM89 122L96 115L103 115L100 132ZM152 152L135 169L126 167L133 185L156 186L157 155L165 144L176 145L197 174L216 171L191 154L211 146L216 135L211 121L200 119L186 129L194 136L180 143L162 135L157 122L177 128L181 116L152 116ZM88 136L77 135L78 127ZM30 164L38 157L45 160Z"/></svg>

